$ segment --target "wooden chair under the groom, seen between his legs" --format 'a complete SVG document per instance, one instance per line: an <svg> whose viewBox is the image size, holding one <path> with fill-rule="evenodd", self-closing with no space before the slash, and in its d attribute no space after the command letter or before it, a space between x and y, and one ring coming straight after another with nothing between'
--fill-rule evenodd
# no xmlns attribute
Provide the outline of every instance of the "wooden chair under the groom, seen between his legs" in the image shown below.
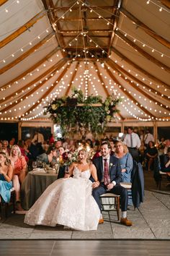
<svg viewBox="0 0 170 256"><path fill-rule="evenodd" d="M105 211L116 210L117 220L120 221L120 195L105 193L100 196L100 199L101 199L102 209ZM102 201L102 199L104 199L104 202ZM105 199L108 199L108 202L106 202ZM110 199L112 199L112 202L110 201ZM111 207L106 210L104 209L104 205L109 205ZM113 208L112 206L115 206L115 208Z"/></svg>

